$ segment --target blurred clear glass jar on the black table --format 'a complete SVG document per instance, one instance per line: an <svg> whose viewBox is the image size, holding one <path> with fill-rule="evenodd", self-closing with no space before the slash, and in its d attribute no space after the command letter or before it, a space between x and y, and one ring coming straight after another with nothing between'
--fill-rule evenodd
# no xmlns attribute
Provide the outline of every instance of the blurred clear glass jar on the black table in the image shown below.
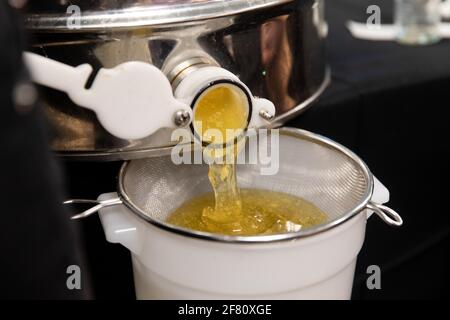
<svg viewBox="0 0 450 320"><path fill-rule="evenodd" d="M426 45L441 39L441 0L395 0L394 24L397 41Z"/></svg>

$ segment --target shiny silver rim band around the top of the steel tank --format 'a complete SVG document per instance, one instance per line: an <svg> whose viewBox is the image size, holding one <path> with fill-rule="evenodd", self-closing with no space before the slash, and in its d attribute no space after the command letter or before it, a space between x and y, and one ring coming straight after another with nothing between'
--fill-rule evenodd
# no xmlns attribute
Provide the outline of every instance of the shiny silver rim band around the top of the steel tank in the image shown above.
<svg viewBox="0 0 450 320"><path fill-rule="evenodd" d="M188 3L153 4L125 8L80 8L80 25L69 28L73 21L70 13L30 13L25 17L25 27L33 32L86 32L108 29L127 29L160 26L207 20L245 12L266 9L298 0L228 0ZM75 4L76 5L76 4Z"/></svg>

